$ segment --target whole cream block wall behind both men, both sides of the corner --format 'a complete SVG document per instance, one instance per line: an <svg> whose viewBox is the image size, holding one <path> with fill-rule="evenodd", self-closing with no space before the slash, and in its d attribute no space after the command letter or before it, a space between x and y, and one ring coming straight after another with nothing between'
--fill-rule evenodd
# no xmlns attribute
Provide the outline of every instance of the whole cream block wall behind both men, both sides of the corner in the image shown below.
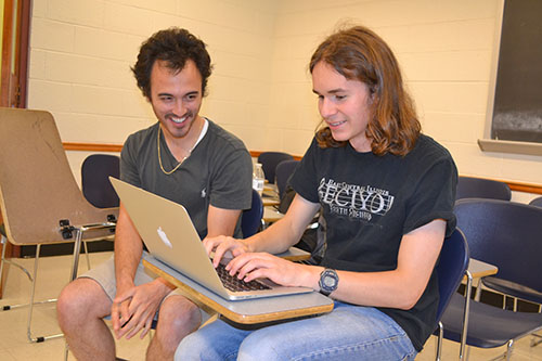
<svg viewBox="0 0 542 361"><path fill-rule="evenodd" d="M208 43L216 65L203 114L250 150L301 155L319 123L307 64L349 20L395 50L424 131L461 173L542 183L541 157L483 153L476 143L501 1L35 0L29 107L51 111L64 141L121 143L154 121L129 72L139 44L178 25Z"/></svg>

